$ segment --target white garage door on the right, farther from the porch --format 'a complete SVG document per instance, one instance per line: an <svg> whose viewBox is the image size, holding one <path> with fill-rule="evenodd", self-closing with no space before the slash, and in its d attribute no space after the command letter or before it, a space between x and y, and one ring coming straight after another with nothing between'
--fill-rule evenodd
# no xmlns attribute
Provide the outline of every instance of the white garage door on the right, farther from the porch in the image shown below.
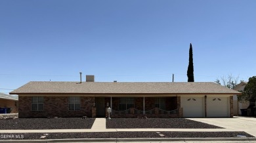
<svg viewBox="0 0 256 143"><path fill-rule="evenodd" d="M207 97L207 117L229 117L228 97Z"/></svg>

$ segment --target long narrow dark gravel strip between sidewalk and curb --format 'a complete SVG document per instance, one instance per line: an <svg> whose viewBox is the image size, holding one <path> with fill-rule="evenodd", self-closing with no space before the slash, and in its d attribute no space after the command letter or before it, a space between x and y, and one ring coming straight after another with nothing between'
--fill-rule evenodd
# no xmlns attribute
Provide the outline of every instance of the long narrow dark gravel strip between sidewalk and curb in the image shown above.
<svg viewBox="0 0 256 143"><path fill-rule="evenodd" d="M16 133L0 134L0 140L44 140L60 138L237 138L238 135L254 137L245 132L103 132L103 133ZM164 136L160 136L163 134Z"/></svg>

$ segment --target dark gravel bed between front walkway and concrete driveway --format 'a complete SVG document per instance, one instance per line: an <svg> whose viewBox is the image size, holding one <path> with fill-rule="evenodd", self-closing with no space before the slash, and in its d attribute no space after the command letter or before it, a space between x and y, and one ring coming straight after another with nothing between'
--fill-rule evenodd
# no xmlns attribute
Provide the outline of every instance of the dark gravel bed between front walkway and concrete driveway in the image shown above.
<svg viewBox="0 0 256 143"><path fill-rule="evenodd" d="M140 128L161 128L161 129L223 129L215 125L209 125L198 121L184 118L112 118L106 119L107 129L140 129Z"/></svg>

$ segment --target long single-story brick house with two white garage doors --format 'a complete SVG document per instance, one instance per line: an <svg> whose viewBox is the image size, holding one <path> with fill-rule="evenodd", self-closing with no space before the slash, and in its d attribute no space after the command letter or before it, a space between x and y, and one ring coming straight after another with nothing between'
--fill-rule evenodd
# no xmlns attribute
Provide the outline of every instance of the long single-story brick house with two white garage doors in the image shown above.
<svg viewBox="0 0 256 143"><path fill-rule="evenodd" d="M232 117L233 94L217 83L35 81L10 92L19 117Z"/></svg>

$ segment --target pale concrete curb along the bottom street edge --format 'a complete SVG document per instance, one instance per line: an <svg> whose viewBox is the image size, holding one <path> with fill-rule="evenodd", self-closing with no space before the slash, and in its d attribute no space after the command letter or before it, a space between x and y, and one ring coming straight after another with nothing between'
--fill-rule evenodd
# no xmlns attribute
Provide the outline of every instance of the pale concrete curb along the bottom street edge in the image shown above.
<svg viewBox="0 0 256 143"><path fill-rule="evenodd" d="M0 140L0 142L255 142L256 138L66 138L47 140Z"/></svg>

